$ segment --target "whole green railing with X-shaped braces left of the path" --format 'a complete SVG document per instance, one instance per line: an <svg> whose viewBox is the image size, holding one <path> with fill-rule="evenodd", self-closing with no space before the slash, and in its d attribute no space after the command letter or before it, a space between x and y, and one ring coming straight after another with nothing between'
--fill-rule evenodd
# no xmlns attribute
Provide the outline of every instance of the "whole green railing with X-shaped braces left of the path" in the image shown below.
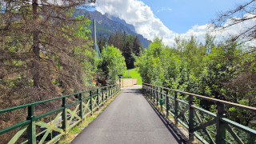
<svg viewBox="0 0 256 144"><path fill-rule="evenodd" d="M87 115L93 114L99 106L102 106L108 98L112 98L119 90L119 85L104 86L76 94L0 110L0 116L14 110L27 110L27 114L24 114L24 118L26 118L25 121L18 122L13 126L8 126L0 130L0 136L5 136L9 132L14 131L14 133L11 133L14 136L7 142L54 143L63 134L68 133L72 127L82 122ZM72 101L70 99L72 99ZM38 116L34 115L36 106L54 101L56 104L59 103L56 109L47 111L44 114L39 114ZM0 140L0 143L2 142L3 141Z"/></svg>

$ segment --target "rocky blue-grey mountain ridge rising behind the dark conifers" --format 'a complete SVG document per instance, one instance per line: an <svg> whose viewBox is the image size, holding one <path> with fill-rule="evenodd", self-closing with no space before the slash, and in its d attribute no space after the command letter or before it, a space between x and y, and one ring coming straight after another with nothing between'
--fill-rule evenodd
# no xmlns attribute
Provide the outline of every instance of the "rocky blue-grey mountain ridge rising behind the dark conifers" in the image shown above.
<svg viewBox="0 0 256 144"><path fill-rule="evenodd" d="M135 32L134 26L127 24L125 20L120 19L118 17L114 17L110 14L102 14L96 10L88 11L88 10L82 10L82 9L75 10L74 15L75 16L85 15L90 19L95 19L96 34L98 38L100 34L102 35L102 37L109 38L111 34L114 34L117 31L126 31L126 34L134 34L138 36L144 48L147 48L150 44L150 41L144 38L142 34L137 34ZM90 22L90 26L89 26L90 30L93 30L92 25L93 25L93 22Z"/></svg>

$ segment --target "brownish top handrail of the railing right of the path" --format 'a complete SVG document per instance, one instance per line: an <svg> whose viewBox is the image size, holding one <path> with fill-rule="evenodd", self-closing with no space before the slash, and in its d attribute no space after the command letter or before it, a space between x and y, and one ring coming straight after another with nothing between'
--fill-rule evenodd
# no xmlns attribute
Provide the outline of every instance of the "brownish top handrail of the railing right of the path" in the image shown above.
<svg viewBox="0 0 256 144"><path fill-rule="evenodd" d="M154 85L150 85L148 83L143 83L142 85L154 86ZM250 111L256 112L256 107L245 106L245 105L241 105L241 104L234 103L234 102L227 102L227 101L223 101L223 100L220 100L220 99L217 99L217 98L210 98L210 97L202 96L202 95L199 95L199 94L192 94L192 93L184 92L184 91L181 91L181 90L173 90L173 89L162 87L162 86L157 86L157 87L162 88L163 90L171 90L171 91L178 92L178 93L181 93L181 94L193 95L197 98L202 98L202 99L205 99L205 100L208 100L208 101L211 101L211 102L221 102L221 103L229 105L229 106L234 106L234 107L238 107L238 108L242 108L242 109L245 109L245 110L250 110Z"/></svg>

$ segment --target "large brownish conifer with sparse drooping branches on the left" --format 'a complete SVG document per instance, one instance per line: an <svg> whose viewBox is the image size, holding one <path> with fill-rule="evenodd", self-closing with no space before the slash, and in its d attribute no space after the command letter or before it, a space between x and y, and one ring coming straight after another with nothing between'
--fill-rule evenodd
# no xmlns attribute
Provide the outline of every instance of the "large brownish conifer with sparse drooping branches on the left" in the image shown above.
<svg viewBox="0 0 256 144"><path fill-rule="evenodd" d="M58 78L67 90L75 81L82 84L74 49L86 49L85 44L89 44L89 31L84 38L77 33L86 30L83 27L90 22L83 17L73 18L72 8L86 1L62 1L60 5L51 2L1 1L4 10L0 25L1 78L8 74L21 75L34 88L53 91L51 80L54 78Z"/></svg>

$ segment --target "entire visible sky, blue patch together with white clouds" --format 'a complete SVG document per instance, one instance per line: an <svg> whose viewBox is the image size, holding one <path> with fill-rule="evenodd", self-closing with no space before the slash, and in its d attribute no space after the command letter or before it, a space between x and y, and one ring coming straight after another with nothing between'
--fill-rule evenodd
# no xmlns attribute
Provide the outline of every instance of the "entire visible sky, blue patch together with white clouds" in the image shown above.
<svg viewBox="0 0 256 144"><path fill-rule="evenodd" d="M234 9L246 0L97 0L96 10L124 19L135 27L138 34L153 40L160 37L172 46L174 38L190 38L194 35L203 42L206 33L216 35L217 40L238 34L245 26L256 24L256 19L230 26L225 31L213 31L211 20L220 11ZM250 17L249 15L246 15ZM227 20L226 23L229 23Z"/></svg>

